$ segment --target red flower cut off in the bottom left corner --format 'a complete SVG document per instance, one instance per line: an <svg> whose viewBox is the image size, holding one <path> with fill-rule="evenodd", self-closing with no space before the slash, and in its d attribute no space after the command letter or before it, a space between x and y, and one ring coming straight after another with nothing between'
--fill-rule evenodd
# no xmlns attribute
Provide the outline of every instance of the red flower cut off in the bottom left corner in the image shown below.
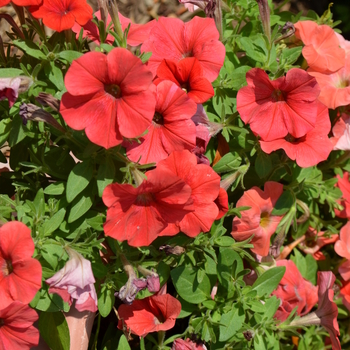
<svg viewBox="0 0 350 350"><path fill-rule="evenodd" d="M29 350L39 344L39 331L33 326L38 314L28 305L14 301L0 309L0 349Z"/></svg>

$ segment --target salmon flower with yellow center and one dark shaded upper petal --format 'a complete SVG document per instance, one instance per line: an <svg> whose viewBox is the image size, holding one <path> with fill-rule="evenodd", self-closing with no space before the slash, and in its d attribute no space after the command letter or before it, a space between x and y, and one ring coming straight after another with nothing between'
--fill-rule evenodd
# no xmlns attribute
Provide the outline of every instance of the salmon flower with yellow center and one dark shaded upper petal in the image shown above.
<svg viewBox="0 0 350 350"><path fill-rule="evenodd" d="M272 215L274 206L283 192L283 185L268 181L264 191L254 186L245 191L236 203L236 207L250 207L241 212L242 217L236 217L232 223L232 237L241 242L254 235L251 244L252 252L267 256L270 248L270 238L283 216Z"/></svg>

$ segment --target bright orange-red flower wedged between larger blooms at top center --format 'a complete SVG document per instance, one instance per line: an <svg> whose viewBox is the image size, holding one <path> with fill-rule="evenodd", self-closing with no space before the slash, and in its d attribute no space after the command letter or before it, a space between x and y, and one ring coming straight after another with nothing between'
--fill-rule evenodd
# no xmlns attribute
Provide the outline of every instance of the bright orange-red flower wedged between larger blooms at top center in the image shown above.
<svg viewBox="0 0 350 350"><path fill-rule="evenodd" d="M195 57L187 57L179 62L163 60L157 69L155 84L163 80L170 80L180 86L196 103L204 103L214 96L214 89L203 76L203 68Z"/></svg>

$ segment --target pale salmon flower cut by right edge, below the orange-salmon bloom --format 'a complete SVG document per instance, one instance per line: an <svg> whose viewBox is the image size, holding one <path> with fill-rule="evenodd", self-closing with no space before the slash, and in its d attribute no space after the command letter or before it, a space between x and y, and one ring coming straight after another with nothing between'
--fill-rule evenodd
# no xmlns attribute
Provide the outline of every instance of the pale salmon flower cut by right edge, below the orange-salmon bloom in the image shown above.
<svg viewBox="0 0 350 350"><path fill-rule="evenodd" d="M316 78L321 88L318 99L328 108L336 109L350 104L350 56L335 73L324 74L311 69L308 69L308 73Z"/></svg>

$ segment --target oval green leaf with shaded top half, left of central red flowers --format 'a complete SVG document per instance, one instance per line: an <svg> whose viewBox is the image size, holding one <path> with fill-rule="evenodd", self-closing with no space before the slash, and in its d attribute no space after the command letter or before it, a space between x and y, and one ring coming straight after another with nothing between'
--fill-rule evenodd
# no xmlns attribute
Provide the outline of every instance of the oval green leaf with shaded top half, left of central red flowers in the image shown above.
<svg viewBox="0 0 350 350"><path fill-rule="evenodd" d="M93 167L90 161L78 163L70 172L67 181L66 196L68 203L81 193L92 179Z"/></svg>

